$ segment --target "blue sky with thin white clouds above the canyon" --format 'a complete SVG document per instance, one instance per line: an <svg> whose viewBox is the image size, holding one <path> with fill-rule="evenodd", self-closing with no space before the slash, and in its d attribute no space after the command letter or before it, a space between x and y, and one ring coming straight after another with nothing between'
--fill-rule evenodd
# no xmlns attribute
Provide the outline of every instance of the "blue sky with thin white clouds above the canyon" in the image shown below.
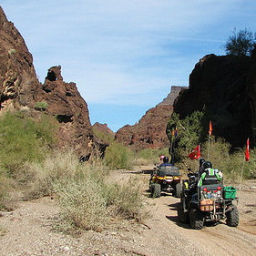
<svg viewBox="0 0 256 256"><path fill-rule="evenodd" d="M44 82L62 67L86 100L91 123L114 131L138 122L189 86L208 54L225 55L234 29L255 32L255 0L0 0Z"/></svg>

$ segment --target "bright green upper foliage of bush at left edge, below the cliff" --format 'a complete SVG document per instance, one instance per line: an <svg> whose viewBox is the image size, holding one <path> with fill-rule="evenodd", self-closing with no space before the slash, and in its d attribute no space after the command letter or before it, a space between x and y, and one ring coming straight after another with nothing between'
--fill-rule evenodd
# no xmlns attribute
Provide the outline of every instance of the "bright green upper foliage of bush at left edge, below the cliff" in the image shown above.
<svg viewBox="0 0 256 256"><path fill-rule="evenodd" d="M6 113L0 118L0 167L15 178L27 161L44 159L54 143L55 126L48 117L41 120Z"/></svg>

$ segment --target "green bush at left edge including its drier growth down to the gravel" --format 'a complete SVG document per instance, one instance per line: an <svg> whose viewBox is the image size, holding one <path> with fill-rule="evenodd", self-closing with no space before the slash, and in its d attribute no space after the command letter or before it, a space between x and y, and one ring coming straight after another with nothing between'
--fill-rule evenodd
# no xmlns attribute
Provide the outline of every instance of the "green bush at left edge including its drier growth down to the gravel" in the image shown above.
<svg viewBox="0 0 256 256"><path fill-rule="evenodd" d="M55 143L53 118L42 116L36 121L22 112L5 113L0 117L0 208L6 208L13 189L20 189L34 179L30 162L46 158ZM7 204L6 204L7 202Z"/></svg>

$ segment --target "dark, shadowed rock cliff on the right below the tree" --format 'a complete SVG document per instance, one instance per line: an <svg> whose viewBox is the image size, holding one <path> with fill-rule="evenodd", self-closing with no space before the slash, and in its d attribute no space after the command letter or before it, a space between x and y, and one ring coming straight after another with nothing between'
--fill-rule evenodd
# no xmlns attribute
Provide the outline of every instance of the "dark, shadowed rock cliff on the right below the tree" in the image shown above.
<svg viewBox="0 0 256 256"><path fill-rule="evenodd" d="M174 111L185 118L205 106L213 134L241 147L256 130L255 74L253 57L204 56L189 76L189 89L176 99Z"/></svg>

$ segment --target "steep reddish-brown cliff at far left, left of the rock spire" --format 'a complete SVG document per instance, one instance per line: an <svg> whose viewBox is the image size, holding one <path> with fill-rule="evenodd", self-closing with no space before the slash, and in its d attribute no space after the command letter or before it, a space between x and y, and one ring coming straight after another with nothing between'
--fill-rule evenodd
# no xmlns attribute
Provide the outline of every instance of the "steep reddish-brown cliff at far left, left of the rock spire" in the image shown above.
<svg viewBox="0 0 256 256"><path fill-rule="evenodd" d="M38 86L33 58L23 37L0 7L0 106L32 107Z"/></svg>

